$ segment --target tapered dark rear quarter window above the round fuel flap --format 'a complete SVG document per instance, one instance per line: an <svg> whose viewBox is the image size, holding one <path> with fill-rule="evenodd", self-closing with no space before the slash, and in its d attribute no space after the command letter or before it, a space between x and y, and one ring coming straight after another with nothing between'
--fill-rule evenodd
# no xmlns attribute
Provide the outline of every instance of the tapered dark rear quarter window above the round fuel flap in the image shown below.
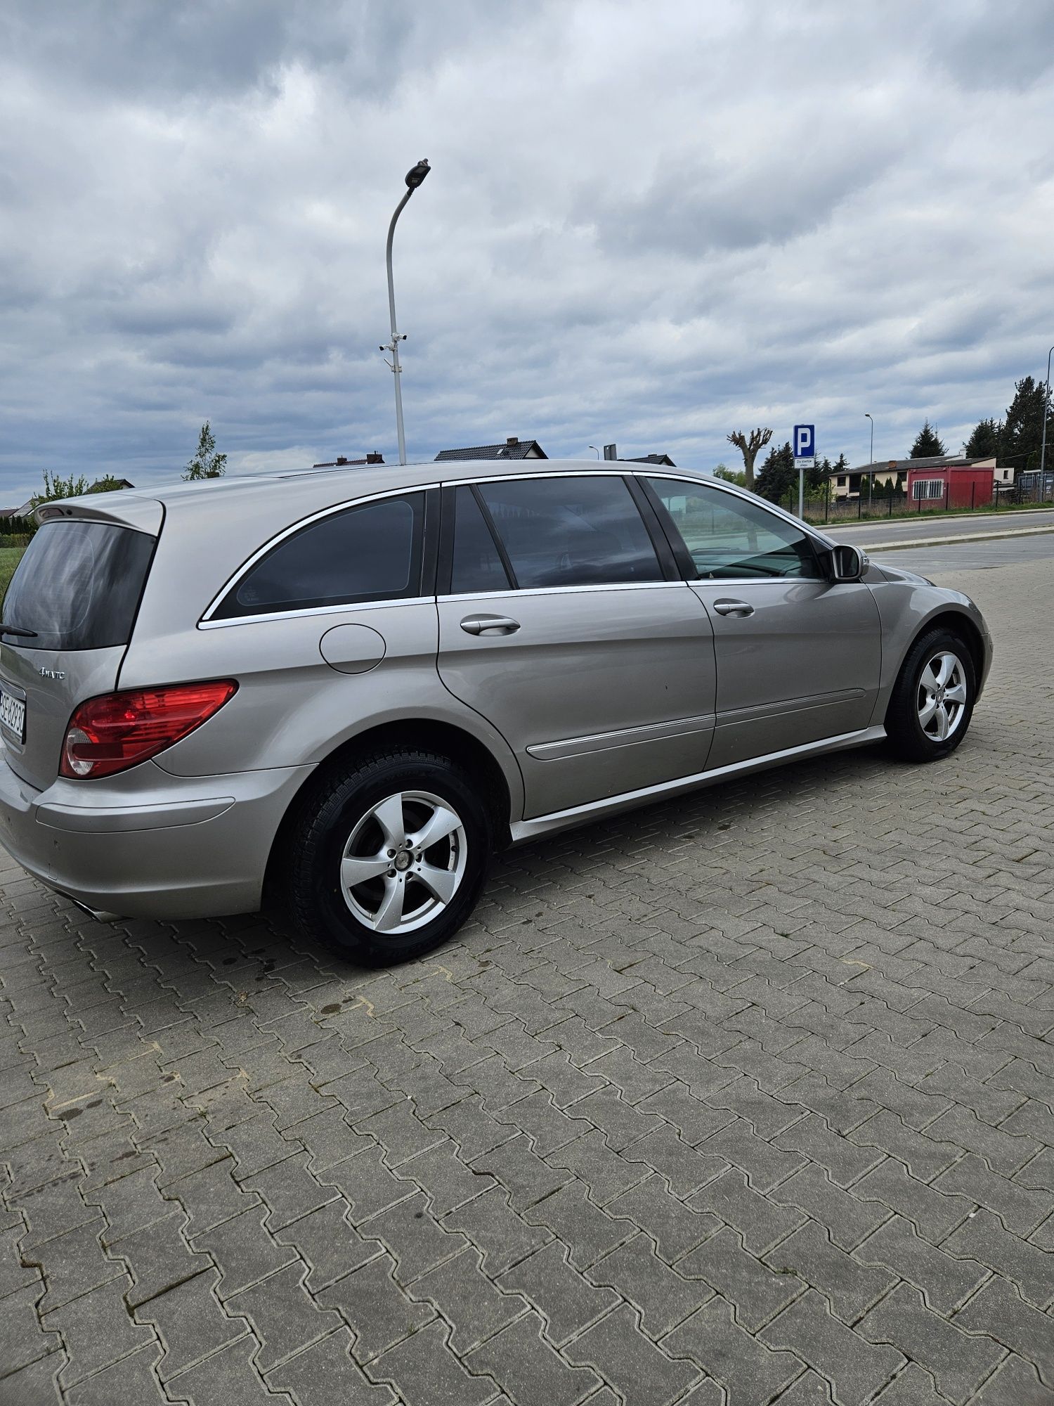
<svg viewBox="0 0 1054 1406"><path fill-rule="evenodd" d="M420 595L424 494L379 498L309 523L261 557L214 620Z"/></svg>

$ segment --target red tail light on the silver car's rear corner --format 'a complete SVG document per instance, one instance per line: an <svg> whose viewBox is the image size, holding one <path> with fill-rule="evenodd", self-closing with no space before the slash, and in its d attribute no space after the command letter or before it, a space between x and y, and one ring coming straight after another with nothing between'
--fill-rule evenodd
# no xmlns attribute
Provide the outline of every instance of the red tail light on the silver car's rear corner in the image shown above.
<svg viewBox="0 0 1054 1406"><path fill-rule="evenodd" d="M89 699L69 720L59 775L112 776L145 762L201 727L236 690L232 679L215 679Z"/></svg>

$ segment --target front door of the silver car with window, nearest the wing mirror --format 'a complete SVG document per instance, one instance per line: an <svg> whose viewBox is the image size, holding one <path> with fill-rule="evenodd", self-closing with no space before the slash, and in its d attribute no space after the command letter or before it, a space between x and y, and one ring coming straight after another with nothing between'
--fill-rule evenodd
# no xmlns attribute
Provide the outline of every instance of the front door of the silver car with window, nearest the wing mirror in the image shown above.
<svg viewBox="0 0 1054 1406"><path fill-rule="evenodd" d="M831 582L812 538L756 499L673 478L648 488L714 627L708 768L866 728L881 669L870 589Z"/></svg>

